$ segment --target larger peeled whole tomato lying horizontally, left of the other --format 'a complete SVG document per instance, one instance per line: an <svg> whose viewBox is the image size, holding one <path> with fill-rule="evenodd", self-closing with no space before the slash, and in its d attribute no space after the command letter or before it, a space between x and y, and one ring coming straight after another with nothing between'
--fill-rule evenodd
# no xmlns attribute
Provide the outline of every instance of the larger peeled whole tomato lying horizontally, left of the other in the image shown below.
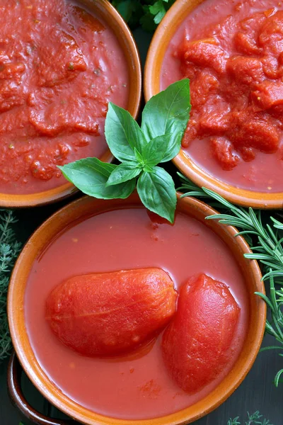
<svg viewBox="0 0 283 425"><path fill-rule="evenodd" d="M165 327L176 300L160 268L93 273L54 288L45 317L59 340L83 356L117 356Z"/></svg>

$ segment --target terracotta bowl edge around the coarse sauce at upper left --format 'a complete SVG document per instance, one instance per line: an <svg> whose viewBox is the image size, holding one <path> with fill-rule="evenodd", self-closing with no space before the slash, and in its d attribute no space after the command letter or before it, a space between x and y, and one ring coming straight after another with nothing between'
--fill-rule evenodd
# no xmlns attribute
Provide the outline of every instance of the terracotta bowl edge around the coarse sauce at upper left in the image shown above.
<svg viewBox="0 0 283 425"><path fill-rule="evenodd" d="M141 63L132 33L120 14L108 0L80 0L80 3L87 6L97 16L101 16L120 41L129 69L130 88L127 110L134 118L137 118L141 101ZM111 162L113 157L110 150L107 149L100 159L104 162ZM45 205L67 198L76 191L77 189L75 186L68 182L49 191L28 195L0 193L0 208L21 208Z"/></svg>

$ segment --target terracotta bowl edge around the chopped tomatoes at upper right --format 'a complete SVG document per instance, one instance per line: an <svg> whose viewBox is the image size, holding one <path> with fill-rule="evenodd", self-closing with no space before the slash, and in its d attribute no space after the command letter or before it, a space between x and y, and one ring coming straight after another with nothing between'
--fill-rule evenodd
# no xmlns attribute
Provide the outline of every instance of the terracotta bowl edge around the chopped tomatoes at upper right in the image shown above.
<svg viewBox="0 0 283 425"><path fill-rule="evenodd" d="M189 13L202 1L205 0L176 0L159 24L146 57L144 71L144 96L146 101L149 101L151 96L160 91L163 57L173 35ZM283 206L283 193L248 191L232 186L229 183L224 183L195 164L182 149L173 159L173 163L197 186L205 186L212 189L212 191L219 193L219 195L232 203L253 208L282 208Z"/></svg>

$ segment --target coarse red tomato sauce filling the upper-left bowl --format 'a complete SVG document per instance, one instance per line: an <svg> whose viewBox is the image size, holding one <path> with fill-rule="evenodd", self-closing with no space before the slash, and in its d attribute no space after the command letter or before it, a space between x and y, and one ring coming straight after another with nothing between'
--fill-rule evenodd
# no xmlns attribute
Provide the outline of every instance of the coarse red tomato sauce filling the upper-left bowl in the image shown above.
<svg viewBox="0 0 283 425"><path fill-rule="evenodd" d="M0 0L0 192L66 180L57 165L100 157L108 101L127 107L112 30L71 0Z"/></svg>

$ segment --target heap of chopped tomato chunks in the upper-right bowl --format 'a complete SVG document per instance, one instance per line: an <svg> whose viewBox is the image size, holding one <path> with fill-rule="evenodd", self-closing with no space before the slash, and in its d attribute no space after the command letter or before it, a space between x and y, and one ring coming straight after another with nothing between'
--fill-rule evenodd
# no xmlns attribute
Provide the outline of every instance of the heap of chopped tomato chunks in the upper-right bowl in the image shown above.
<svg viewBox="0 0 283 425"><path fill-rule="evenodd" d="M237 7L240 13L243 4ZM283 11L255 11L239 21L222 17L203 38L186 36L177 52L180 72L191 80L183 148L207 139L225 171L253 161L257 150L277 152L283 128Z"/></svg>

